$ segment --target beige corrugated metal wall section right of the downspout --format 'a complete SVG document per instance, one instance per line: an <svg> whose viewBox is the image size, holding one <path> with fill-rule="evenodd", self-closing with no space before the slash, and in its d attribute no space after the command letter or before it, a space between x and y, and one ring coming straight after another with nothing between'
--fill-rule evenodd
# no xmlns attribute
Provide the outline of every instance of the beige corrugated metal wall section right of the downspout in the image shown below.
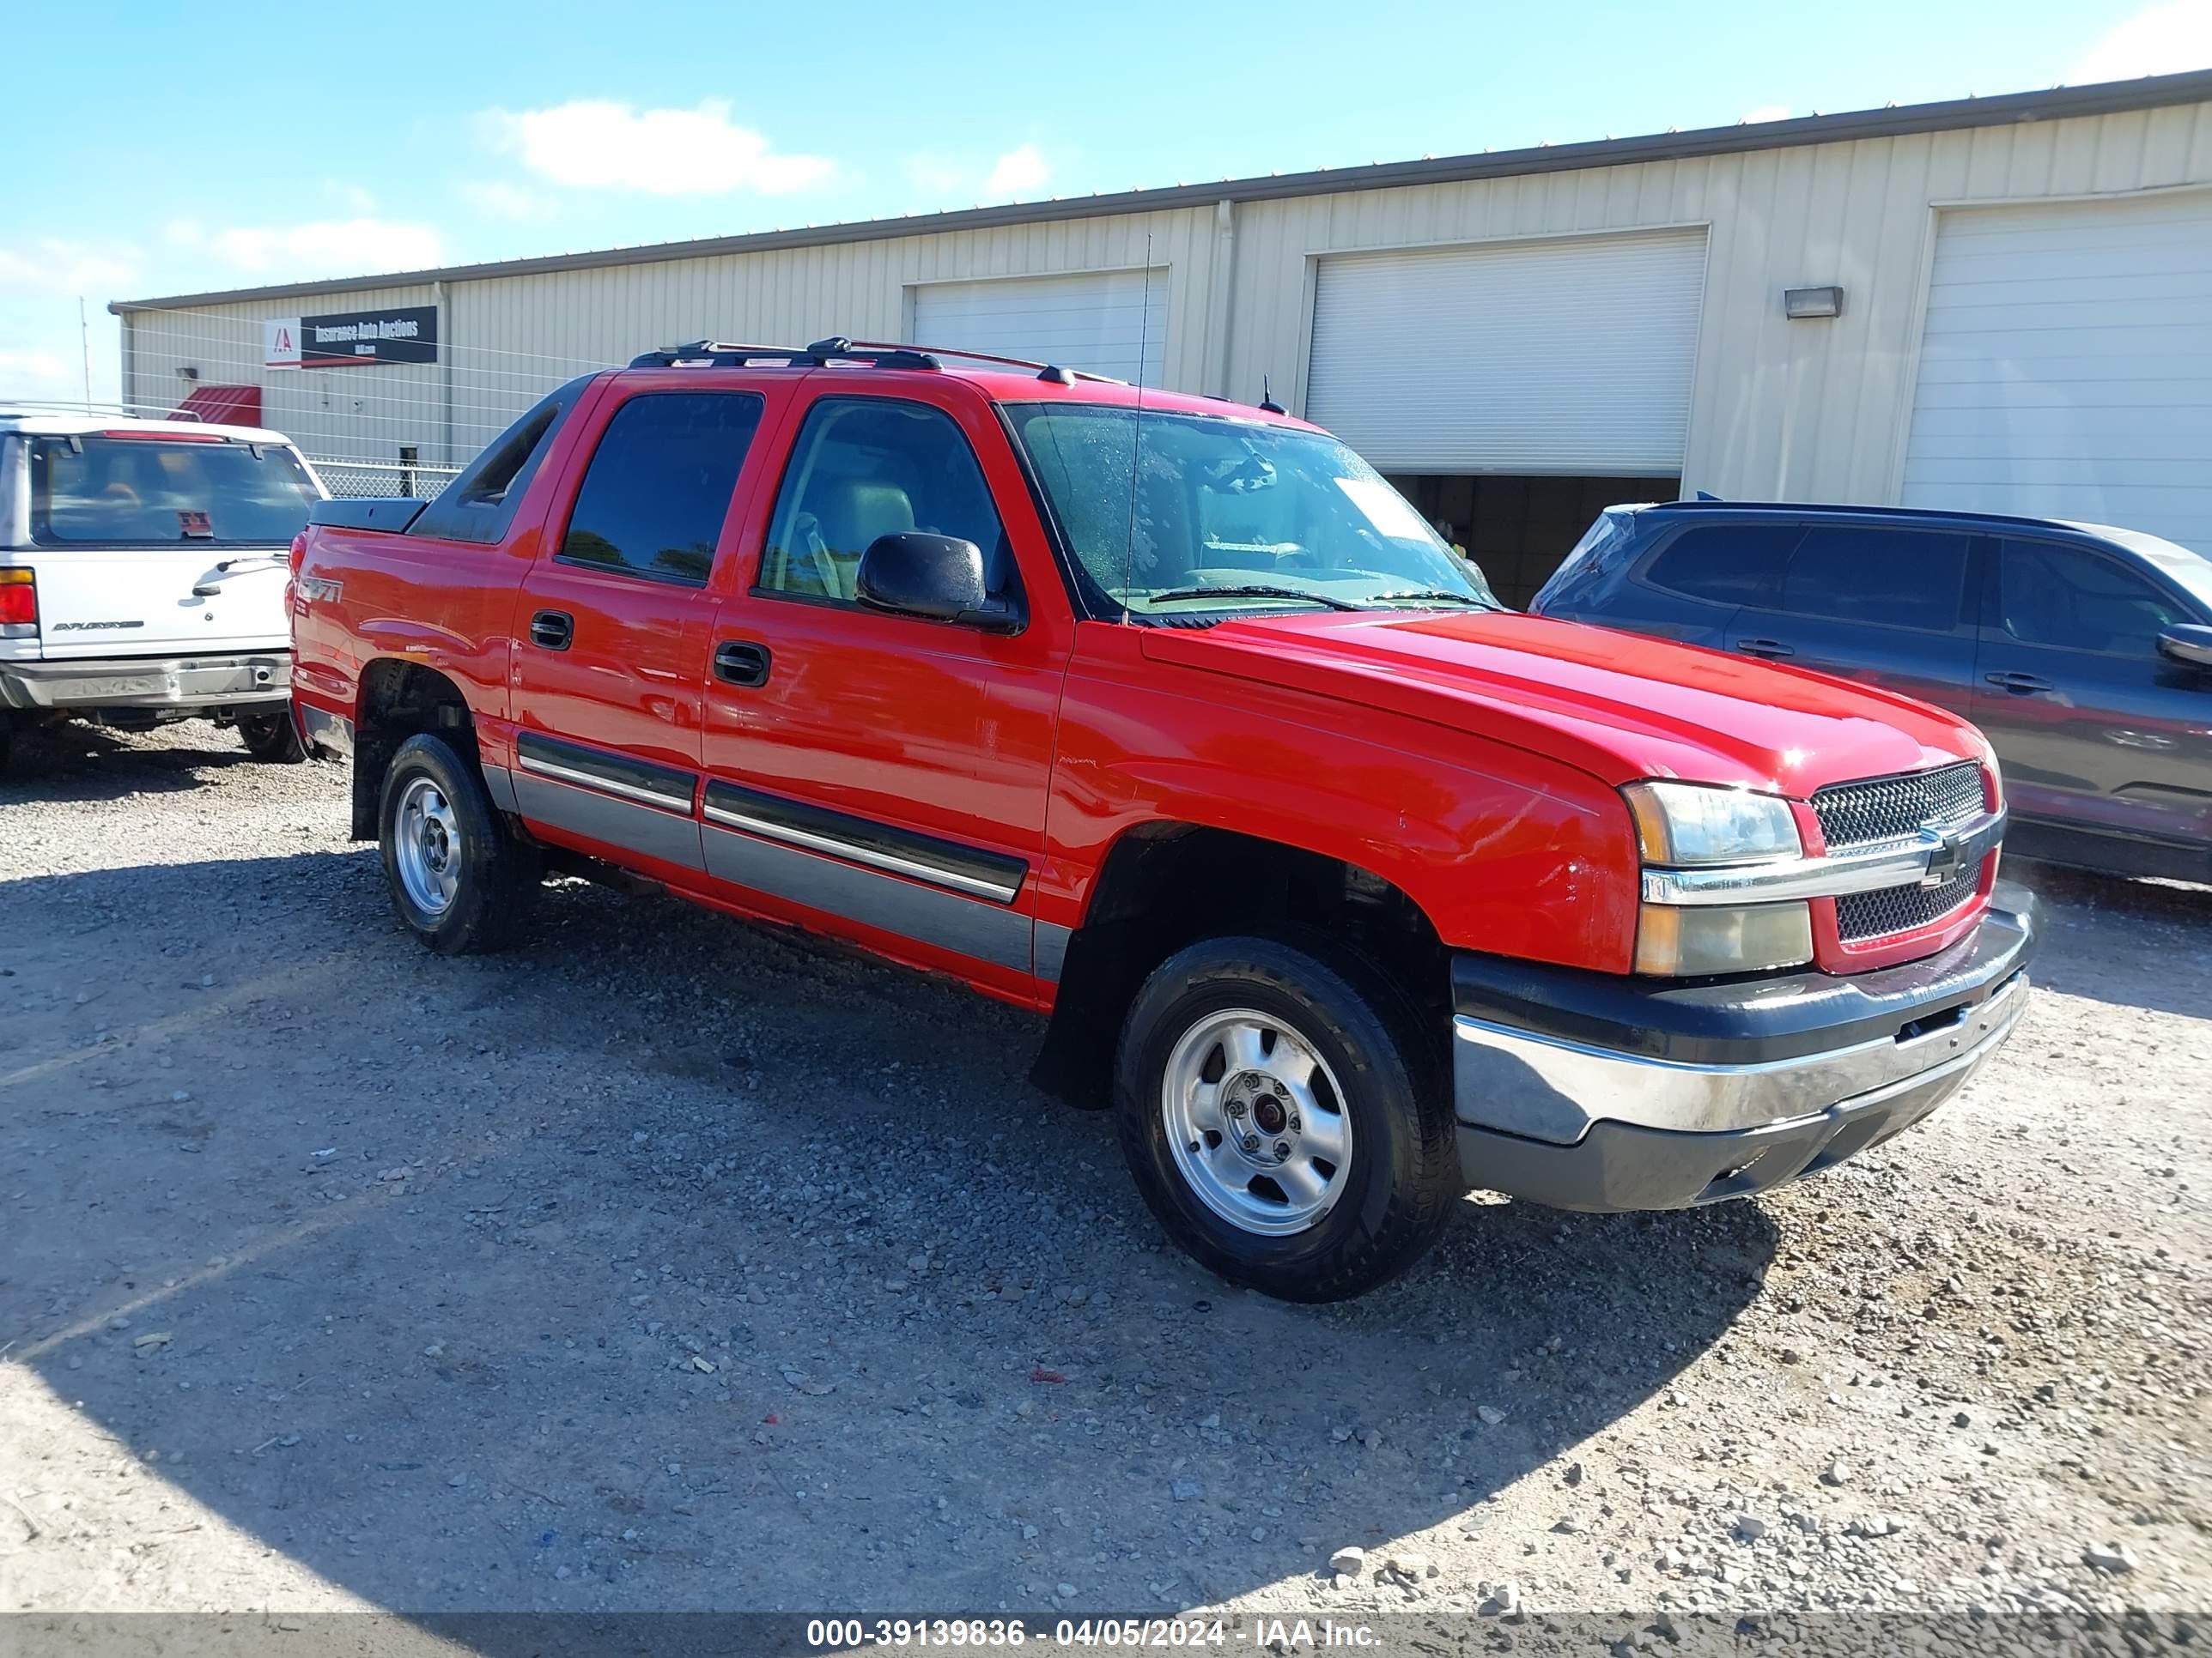
<svg viewBox="0 0 2212 1658"><path fill-rule="evenodd" d="M1708 223L1683 491L1893 502L1936 203L2212 181L2212 104L1237 210L1230 396L1305 396L1312 267L1358 248ZM1783 287L1840 283L1836 321Z"/></svg>

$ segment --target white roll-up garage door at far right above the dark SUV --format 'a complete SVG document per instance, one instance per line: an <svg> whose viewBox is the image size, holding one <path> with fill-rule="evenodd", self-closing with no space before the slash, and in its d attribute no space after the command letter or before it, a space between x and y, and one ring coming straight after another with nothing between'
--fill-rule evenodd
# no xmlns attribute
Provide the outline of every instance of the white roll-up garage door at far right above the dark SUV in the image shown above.
<svg viewBox="0 0 2212 1658"><path fill-rule="evenodd" d="M2212 553L2212 190L1942 214L1905 504Z"/></svg>

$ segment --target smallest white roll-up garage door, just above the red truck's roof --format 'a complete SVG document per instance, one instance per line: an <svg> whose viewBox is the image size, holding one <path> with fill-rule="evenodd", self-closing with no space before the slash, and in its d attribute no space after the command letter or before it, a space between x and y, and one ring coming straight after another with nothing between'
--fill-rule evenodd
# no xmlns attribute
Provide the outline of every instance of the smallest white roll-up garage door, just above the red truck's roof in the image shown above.
<svg viewBox="0 0 2212 1658"><path fill-rule="evenodd" d="M1057 363L1159 385L1168 343L1168 272L1002 276L922 283L914 290L914 340Z"/></svg>

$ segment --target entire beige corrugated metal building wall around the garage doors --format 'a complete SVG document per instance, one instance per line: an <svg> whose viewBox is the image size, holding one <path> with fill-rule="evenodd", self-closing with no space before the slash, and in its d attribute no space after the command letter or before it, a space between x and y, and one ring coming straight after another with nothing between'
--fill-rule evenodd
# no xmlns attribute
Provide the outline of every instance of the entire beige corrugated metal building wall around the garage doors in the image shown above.
<svg viewBox="0 0 2212 1658"><path fill-rule="evenodd" d="M2212 181L2212 104L1739 155L1358 190L1214 208L960 230L712 259L451 283L440 318L462 455L546 385L675 340L889 338L916 283L1168 267L1166 380L1303 407L1316 261L1655 225L1710 225L1683 489L1896 500L1940 203L2130 192ZM1836 321L1790 323L1781 290L1840 283ZM312 453L436 460L436 369L259 371L261 318L431 303L427 287L223 305L124 321L131 398L181 398L234 363L268 418ZM190 321L204 318L204 321ZM197 332L195 332L197 329ZM199 351L201 356L192 356ZM221 354L221 356L219 356Z"/></svg>

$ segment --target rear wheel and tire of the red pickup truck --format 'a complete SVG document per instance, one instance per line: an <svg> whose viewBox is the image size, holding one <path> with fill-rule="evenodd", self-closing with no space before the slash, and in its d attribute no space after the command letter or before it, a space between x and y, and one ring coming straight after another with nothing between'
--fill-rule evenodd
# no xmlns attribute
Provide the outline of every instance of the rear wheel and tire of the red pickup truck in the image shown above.
<svg viewBox="0 0 2212 1658"><path fill-rule="evenodd" d="M476 765L445 741L400 743L385 772L376 842L392 909L425 946L467 955L515 935L538 886L538 849L513 836Z"/></svg>

